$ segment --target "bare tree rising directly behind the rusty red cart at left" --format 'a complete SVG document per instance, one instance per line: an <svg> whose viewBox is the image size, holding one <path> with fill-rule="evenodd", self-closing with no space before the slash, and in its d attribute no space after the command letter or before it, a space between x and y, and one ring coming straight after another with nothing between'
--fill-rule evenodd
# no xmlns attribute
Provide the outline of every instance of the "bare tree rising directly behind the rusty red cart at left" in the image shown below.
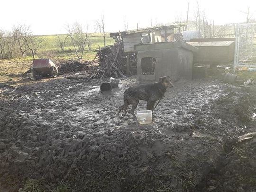
<svg viewBox="0 0 256 192"><path fill-rule="evenodd" d="M32 31L30 30L30 26L26 25L20 25L21 27L21 33L23 40L27 44L27 48L31 51L31 54L33 56L33 59L35 59L35 55L37 54L37 51L44 47L44 38L34 36L32 34Z"/></svg>

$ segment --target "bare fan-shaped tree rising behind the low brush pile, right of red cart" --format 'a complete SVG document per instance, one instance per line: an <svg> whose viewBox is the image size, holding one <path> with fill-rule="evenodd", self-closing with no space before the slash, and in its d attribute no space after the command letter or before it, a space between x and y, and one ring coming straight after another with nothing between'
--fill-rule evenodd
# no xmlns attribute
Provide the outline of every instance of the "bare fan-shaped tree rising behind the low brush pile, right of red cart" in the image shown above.
<svg viewBox="0 0 256 192"><path fill-rule="evenodd" d="M68 35L73 43L75 54L78 59L82 59L85 47L88 43L88 25L86 31L83 31L82 25L74 23L72 26L66 25ZM78 54L81 53L81 55Z"/></svg>

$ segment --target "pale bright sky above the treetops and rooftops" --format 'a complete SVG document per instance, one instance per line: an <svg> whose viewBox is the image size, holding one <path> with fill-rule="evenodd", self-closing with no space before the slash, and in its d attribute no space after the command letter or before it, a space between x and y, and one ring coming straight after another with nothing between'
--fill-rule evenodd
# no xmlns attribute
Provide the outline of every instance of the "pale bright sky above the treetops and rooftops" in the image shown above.
<svg viewBox="0 0 256 192"><path fill-rule="evenodd" d="M193 19L196 0L0 0L0 28L10 30L13 25L31 25L34 34L66 33L64 25L86 23L94 31L94 21L105 17L107 32L123 31L124 16L128 29L174 22L186 17L190 2L189 18ZM250 6L256 18L256 0L198 0L208 20L225 24L246 21Z"/></svg>

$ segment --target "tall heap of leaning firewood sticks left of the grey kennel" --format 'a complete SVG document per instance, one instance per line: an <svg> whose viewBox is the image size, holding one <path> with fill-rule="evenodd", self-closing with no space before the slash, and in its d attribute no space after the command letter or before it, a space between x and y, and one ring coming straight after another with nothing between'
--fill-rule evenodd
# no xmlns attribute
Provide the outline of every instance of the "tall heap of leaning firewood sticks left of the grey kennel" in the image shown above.
<svg viewBox="0 0 256 192"><path fill-rule="evenodd" d="M126 65L126 56L121 43L116 42L96 51L95 60L98 61L99 68L90 78L125 77L123 68Z"/></svg>

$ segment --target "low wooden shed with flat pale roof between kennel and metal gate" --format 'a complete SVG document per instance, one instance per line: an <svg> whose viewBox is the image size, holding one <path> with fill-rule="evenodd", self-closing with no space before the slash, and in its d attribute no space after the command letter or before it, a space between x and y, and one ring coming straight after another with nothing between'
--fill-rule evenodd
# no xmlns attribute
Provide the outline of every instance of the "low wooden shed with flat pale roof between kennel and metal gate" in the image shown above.
<svg viewBox="0 0 256 192"><path fill-rule="evenodd" d="M194 54L194 63L220 65L234 60L234 41L198 41L188 43L198 48L198 52Z"/></svg>

